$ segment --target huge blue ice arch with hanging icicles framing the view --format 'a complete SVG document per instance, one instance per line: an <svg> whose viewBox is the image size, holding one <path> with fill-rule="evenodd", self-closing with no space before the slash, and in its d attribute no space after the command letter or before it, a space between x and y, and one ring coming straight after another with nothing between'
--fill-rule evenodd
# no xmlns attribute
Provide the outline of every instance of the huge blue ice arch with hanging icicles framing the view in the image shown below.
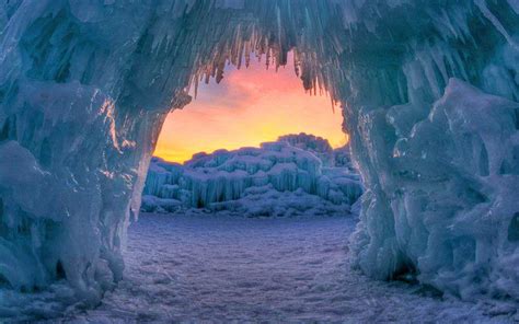
<svg viewBox="0 0 519 324"><path fill-rule="evenodd" d="M517 0L14 0L0 7L0 280L95 302L166 113L226 59L295 48L344 103L376 278L519 299ZM463 81L461 81L463 80ZM472 85L470 85L472 84Z"/></svg>

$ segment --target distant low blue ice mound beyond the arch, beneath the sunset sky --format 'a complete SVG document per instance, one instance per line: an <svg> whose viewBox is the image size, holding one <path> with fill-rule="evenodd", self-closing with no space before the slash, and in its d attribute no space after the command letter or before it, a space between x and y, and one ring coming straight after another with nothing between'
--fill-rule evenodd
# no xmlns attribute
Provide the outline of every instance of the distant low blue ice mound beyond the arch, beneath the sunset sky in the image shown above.
<svg viewBox="0 0 519 324"><path fill-rule="evenodd" d="M322 157L328 166L323 166L318 152L325 152ZM198 153L184 165L154 158L141 209L206 208L243 216L346 215L362 187L358 174L332 165L333 154L327 140L300 134L261 148Z"/></svg>

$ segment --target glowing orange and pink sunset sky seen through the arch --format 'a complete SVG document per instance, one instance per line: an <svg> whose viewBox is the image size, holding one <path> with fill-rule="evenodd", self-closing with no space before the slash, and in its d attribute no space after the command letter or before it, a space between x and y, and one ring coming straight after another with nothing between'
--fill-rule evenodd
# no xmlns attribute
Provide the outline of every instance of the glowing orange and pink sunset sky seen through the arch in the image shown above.
<svg viewBox="0 0 519 324"><path fill-rule="evenodd" d="M346 142L342 123L328 96L304 93L291 61L276 73L254 60L249 69L228 67L220 84L200 84L196 100L168 116L154 155L184 162L197 152L257 147L301 131L339 147Z"/></svg>

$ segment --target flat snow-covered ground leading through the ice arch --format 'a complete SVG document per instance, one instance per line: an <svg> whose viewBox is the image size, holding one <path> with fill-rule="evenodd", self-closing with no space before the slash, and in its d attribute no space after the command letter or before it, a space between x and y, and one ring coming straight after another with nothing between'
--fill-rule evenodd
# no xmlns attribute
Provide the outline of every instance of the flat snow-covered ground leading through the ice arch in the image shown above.
<svg viewBox="0 0 519 324"><path fill-rule="evenodd" d="M385 322L484 320L481 305L351 271L351 218L237 219L143 215L126 279L76 321ZM503 312L496 309L494 315ZM72 320L69 319L69 320ZM494 317L506 322L512 317Z"/></svg>

